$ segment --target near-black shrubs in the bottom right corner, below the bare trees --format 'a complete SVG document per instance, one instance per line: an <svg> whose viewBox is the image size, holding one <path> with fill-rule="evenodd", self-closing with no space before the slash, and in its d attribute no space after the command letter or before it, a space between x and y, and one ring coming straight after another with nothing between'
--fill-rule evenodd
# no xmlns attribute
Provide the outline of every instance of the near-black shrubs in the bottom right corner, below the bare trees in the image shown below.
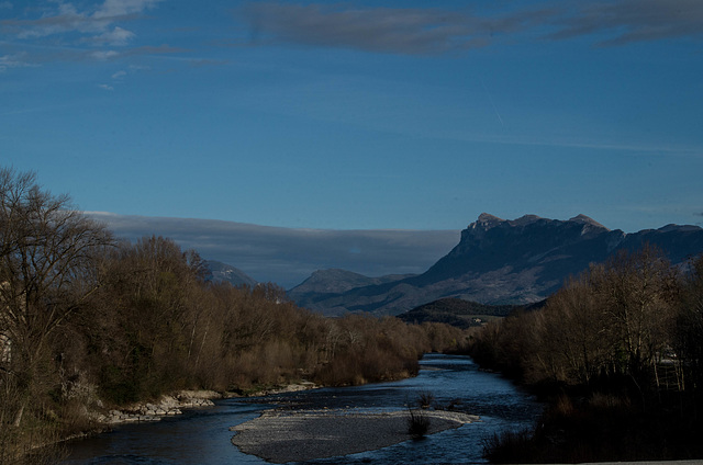
<svg viewBox="0 0 703 465"><path fill-rule="evenodd" d="M553 399L538 424L487 441L493 463L593 463L692 460L703 456L700 419L680 406L643 409L629 398L595 394Z"/></svg>

